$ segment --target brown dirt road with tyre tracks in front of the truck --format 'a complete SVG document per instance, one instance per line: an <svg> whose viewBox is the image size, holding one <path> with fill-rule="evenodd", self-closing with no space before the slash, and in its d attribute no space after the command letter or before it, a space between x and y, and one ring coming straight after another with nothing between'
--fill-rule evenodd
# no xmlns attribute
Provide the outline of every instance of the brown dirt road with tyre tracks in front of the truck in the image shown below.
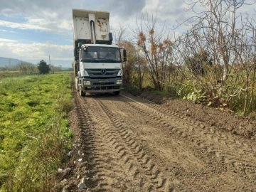
<svg viewBox="0 0 256 192"><path fill-rule="evenodd" d="M249 139L131 95L75 93L75 105L82 191L256 191Z"/></svg>

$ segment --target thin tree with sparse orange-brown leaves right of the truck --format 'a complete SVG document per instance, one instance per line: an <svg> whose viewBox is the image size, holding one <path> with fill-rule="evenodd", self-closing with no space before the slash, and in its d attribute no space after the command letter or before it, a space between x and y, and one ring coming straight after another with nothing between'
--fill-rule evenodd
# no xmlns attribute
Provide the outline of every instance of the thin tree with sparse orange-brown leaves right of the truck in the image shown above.
<svg viewBox="0 0 256 192"><path fill-rule="evenodd" d="M166 70L172 56L172 43L167 36L164 39L165 32L166 26L159 33L156 32L156 17L153 14L151 21L142 16L141 26L137 23L137 31L134 31L137 45L146 61L149 78L156 90L164 90Z"/></svg>

